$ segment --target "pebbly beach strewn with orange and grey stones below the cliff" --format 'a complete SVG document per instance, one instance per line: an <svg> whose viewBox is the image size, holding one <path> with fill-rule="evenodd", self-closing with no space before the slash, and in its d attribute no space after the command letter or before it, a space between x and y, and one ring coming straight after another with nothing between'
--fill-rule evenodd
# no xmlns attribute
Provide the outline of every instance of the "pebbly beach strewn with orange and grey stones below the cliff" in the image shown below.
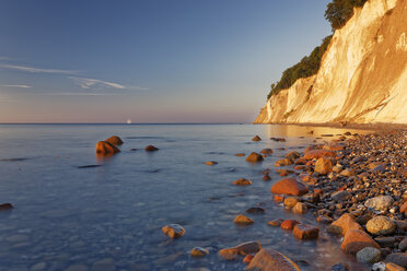
<svg viewBox="0 0 407 271"><path fill-rule="evenodd" d="M406 143L406 131L345 133L339 140L310 145L303 153L288 153L276 163L277 167L290 169L278 169L280 176L289 176L271 187L274 199L294 213L312 212L315 224L330 224L329 234L344 236L342 251L353 255L372 270L405 270ZM269 225L293 229L300 239L318 235L318 227L296 221L276 220ZM258 255L254 259L261 263L247 269L271 270L268 266L272 260L267 261L270 254L268 257L265 252ZM261 260L256 259L258 257ZM298 267L292 266L292 270L296 270ZM349 269L338 263L332 270Z"/></svg>

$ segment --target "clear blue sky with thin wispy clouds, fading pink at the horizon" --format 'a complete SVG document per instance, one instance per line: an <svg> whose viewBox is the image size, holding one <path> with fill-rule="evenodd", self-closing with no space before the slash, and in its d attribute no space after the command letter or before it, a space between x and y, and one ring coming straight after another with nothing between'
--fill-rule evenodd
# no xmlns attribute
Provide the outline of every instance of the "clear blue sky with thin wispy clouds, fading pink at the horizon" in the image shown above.
<svg viewBox="0 0 407 271"><path fill-rule="evenodd" d="M0 122L252 122L328 0L2 0Z"/></svg>

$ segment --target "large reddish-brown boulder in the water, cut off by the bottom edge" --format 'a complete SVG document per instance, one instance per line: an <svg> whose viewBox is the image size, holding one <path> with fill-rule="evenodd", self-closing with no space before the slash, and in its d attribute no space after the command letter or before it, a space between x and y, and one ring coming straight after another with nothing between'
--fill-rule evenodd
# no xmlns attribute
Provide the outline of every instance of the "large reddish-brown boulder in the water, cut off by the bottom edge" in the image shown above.
<svg viewBox="0 0 407 271"><path fill-rule="evenodd" d="M252 259L246 268L247 271L301 271L299 266L287 256L274 250L261 249Z"/></svg>

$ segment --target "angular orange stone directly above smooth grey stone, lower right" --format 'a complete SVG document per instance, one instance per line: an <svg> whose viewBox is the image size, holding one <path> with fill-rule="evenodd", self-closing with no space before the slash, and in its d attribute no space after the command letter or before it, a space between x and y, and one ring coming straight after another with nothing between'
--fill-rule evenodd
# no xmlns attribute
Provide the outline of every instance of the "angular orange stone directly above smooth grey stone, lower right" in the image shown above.
<svg viewBox="0 0 407 271"><path fill-rule="evenodd" d="M356 255L365 247L380 249L377 243L375 243L365 232L360 229L350 229L345 234L340 248L346 254Z"/></svg>

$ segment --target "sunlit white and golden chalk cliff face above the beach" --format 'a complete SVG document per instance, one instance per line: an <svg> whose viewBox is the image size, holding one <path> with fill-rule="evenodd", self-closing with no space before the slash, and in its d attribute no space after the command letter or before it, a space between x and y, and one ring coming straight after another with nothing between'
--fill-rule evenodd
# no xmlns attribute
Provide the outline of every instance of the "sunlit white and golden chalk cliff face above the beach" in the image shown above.
<svg viewBox="0 0 407 271"><path fill-rule="evenodd" d="M274 95L255 122L407 123L407 0L370 0L335 35L316 75Z"/></svg>

